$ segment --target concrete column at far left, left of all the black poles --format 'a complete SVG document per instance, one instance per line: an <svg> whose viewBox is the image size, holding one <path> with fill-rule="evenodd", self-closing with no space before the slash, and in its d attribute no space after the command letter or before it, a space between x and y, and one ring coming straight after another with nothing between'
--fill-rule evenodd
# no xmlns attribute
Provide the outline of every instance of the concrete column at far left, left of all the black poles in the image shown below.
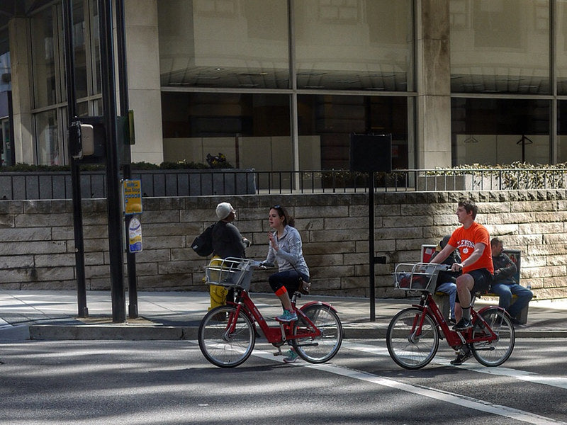
<svg viewBox="0 0 567 425"><path fill-rule="evenodd" d="M28 28L27 18L12 18L8 25L12 67L13 149L16 155L16 163L35 164Z"/></svg>

